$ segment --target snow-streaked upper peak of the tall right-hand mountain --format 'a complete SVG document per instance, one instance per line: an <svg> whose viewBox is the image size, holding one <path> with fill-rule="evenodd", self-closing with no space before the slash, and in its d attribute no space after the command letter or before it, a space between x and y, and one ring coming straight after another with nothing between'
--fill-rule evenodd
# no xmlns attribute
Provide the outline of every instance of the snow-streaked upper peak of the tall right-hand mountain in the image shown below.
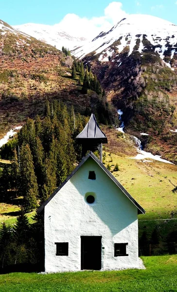
<svg viewBox="0 0 177 292"><path fill-rule="evenodd" d="M114 43L113 49L111 45ZM134 50L138 50L140 54L144 53L147 45L150 45L152 53L158 53L161 59L164 59L165 55L172 59L177 54L177 25L149 15L130 15L108 32L101 32L92 41L76 49L73 55L81 59L94 52L94 55L99 54L99 61L102 62L108 61L115 49L120 54L126 48L129 56ZM167 64L170 67L170 60Z"/></svg>

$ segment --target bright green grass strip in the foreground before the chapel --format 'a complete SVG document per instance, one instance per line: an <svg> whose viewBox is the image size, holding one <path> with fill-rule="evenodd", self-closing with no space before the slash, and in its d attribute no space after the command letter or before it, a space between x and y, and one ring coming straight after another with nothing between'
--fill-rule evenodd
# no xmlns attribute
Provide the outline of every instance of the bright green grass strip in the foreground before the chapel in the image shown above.
<svg viewBox="0 0 177 292"><path fill-rule="evenodd" d="M146 270L0 275L0 292L177 292L177 255L142 257Z"/></svg>

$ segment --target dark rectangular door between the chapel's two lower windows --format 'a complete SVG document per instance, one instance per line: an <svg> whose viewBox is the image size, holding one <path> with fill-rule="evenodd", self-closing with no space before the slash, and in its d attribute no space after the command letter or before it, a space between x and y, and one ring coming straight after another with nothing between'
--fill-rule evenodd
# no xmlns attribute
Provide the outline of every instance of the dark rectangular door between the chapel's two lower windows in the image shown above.
<svg viewBox="0 0 177 292"><path fill-rule="evenodd" d="M101 270L101 253L101 236L81 236L81 270Z"/></svg>

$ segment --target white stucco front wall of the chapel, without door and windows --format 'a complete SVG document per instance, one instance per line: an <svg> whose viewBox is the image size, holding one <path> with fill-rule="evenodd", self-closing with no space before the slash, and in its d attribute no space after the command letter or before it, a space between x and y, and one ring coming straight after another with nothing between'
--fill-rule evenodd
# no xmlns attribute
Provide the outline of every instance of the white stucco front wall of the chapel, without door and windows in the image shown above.
<svg viewBox="0 0 177 292"><path fill-rule="evenodd" d="M96 180L88 179L95 171ZM84 196L94 192L94 204ZM81 270L81 236L102 236L102 270L138 268L137 207L90 157L45 206L45 271ZM69 256L56 256L54 242L69 242ZM114 257L114 243L128 256Z"/></svg>

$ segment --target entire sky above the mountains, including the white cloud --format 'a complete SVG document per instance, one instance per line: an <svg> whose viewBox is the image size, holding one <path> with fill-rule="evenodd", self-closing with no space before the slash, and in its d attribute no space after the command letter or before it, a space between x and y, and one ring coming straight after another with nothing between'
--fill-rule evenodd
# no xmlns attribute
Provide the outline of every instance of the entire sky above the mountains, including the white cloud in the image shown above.
<svg viewBox="0 0 177 292"><path fill-rule="evenodd" d="M105 31L129 14L149 14L177 24L177 0L0 0L0 19L10 25L57 24L75 35L83 35L86 26Z"/></svg>

